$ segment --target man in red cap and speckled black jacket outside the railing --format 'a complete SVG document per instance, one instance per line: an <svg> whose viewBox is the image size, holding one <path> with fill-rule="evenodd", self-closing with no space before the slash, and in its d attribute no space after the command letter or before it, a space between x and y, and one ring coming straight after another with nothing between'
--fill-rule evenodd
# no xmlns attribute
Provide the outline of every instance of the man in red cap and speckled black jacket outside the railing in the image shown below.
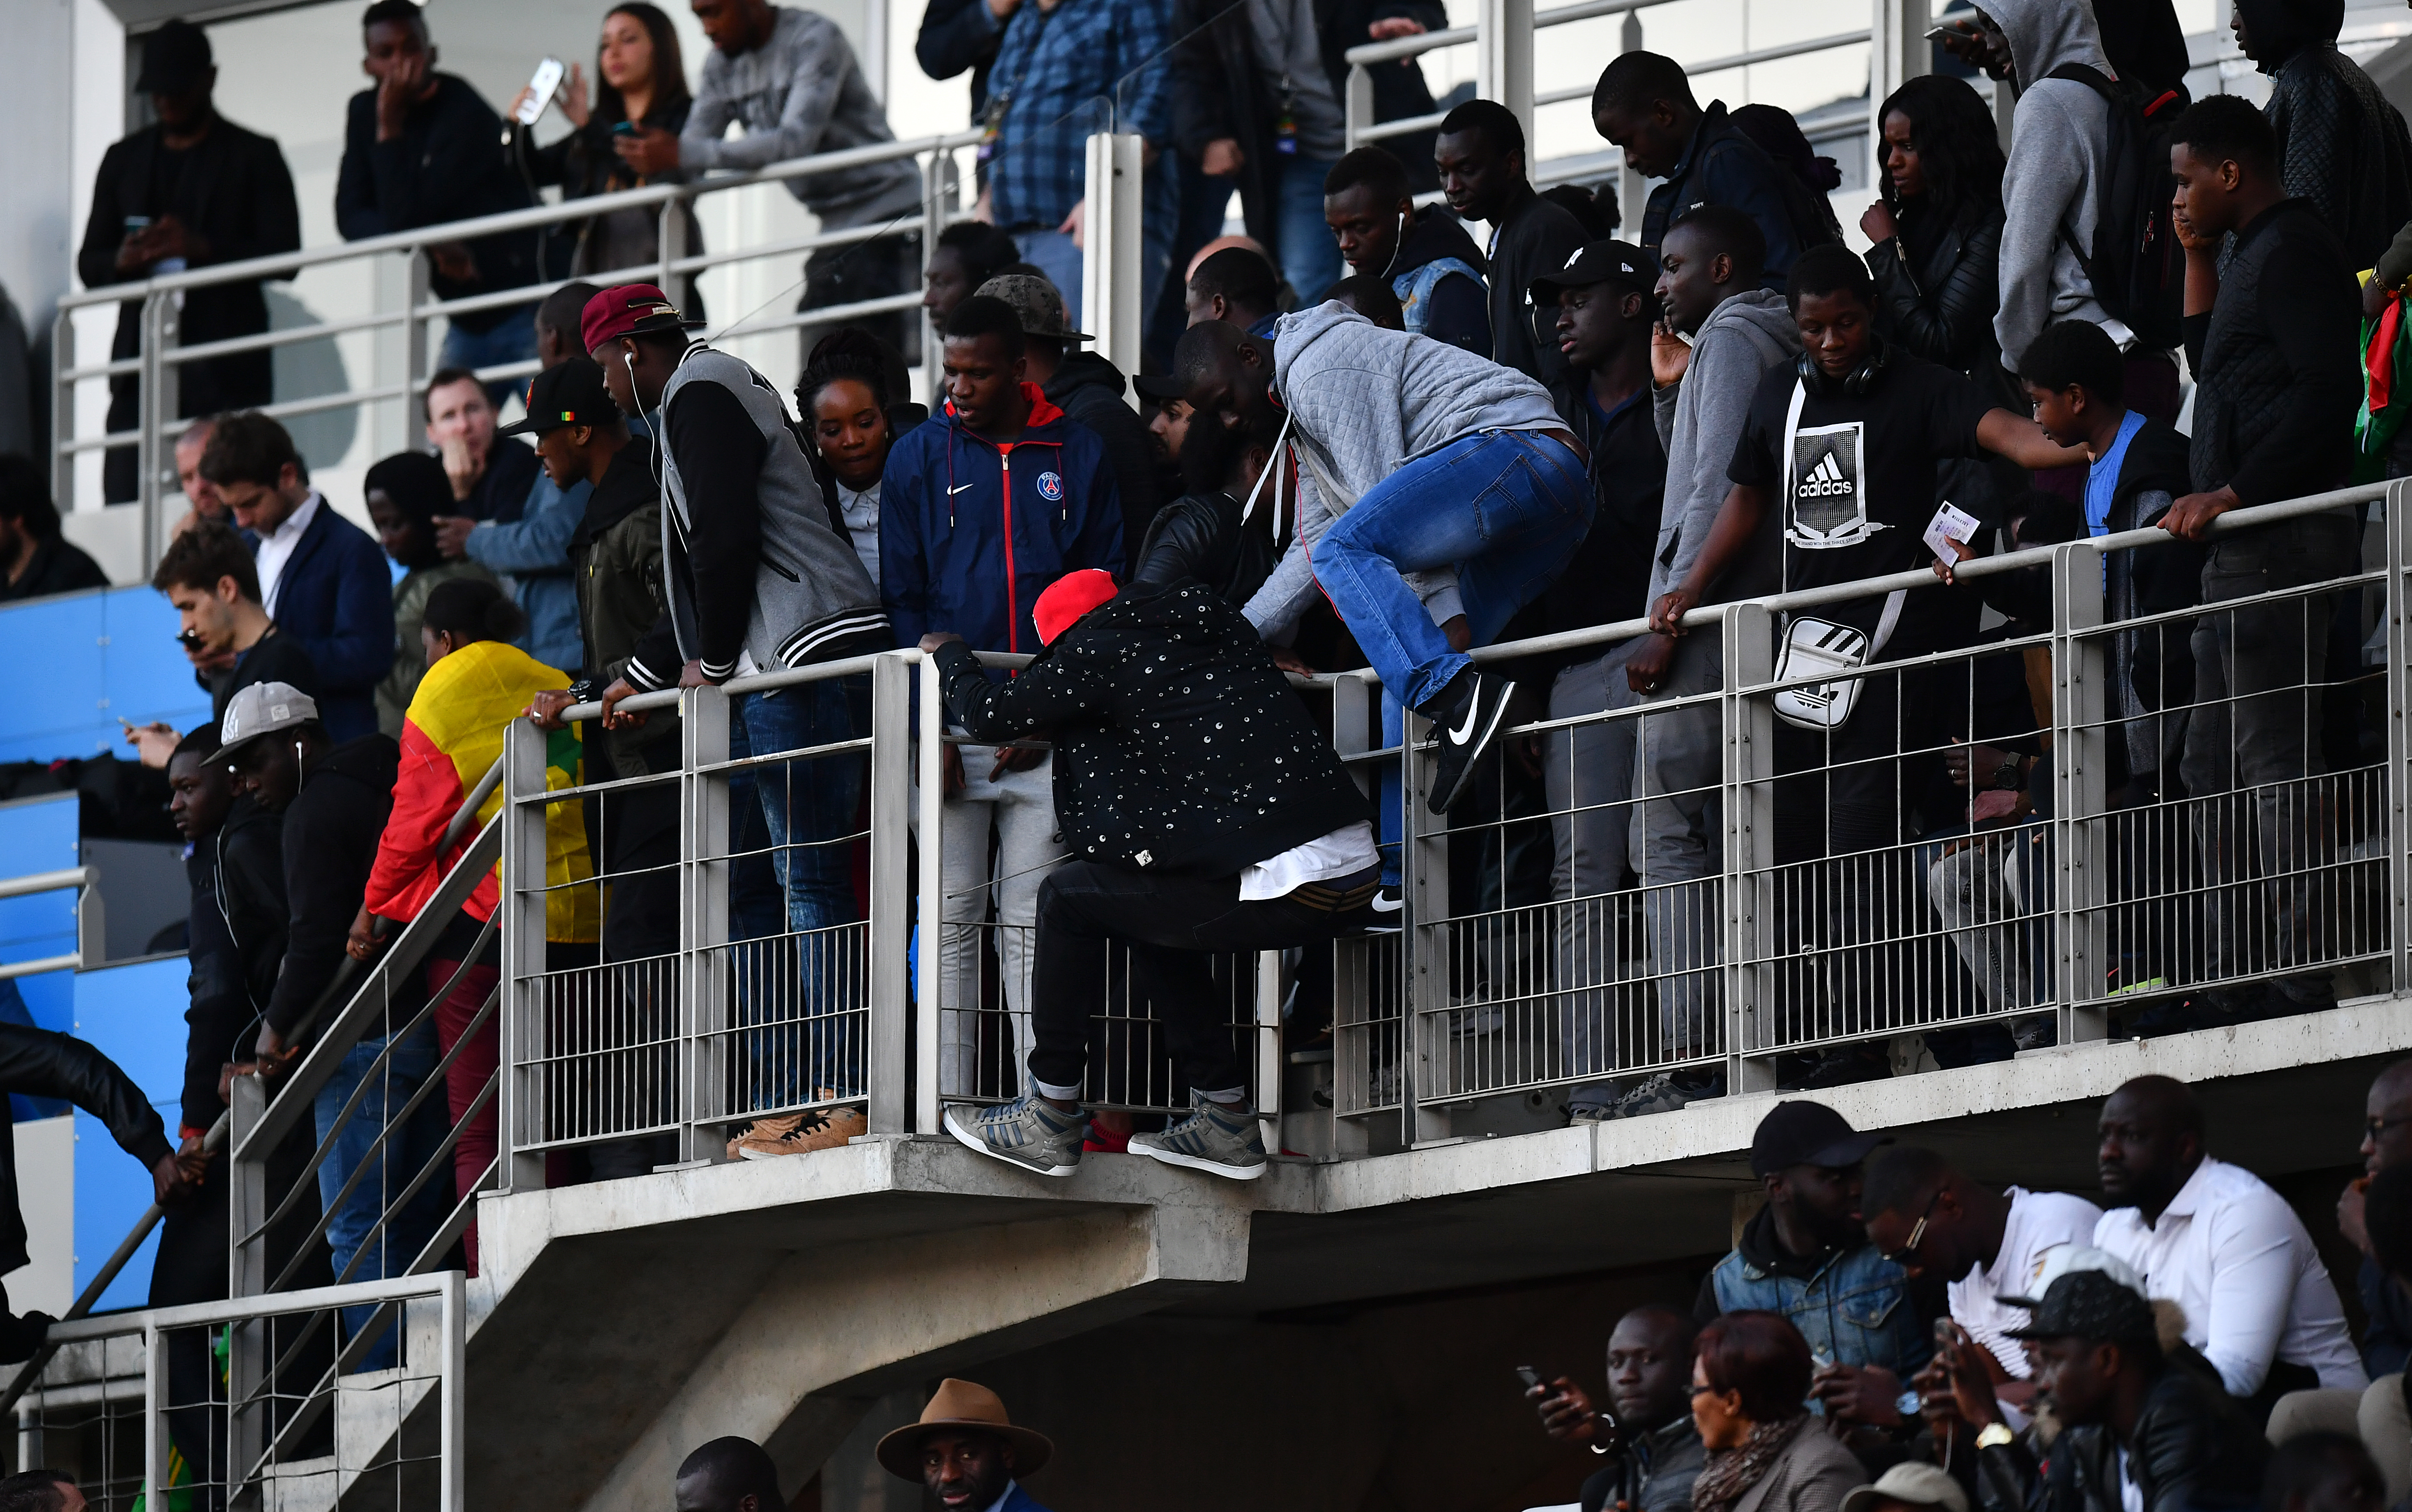
<svg viewBox="0 0 2412 1512"><path fill-rule="evenodd" d="M1317 736L1247 617L1196 581L1085 569L1040 593L1044 651L991 682L962 637L933 632L946 707L974 740L1049 731L1071 858L1040 885L1023 1095L960 1104L946 1129L1047 1177L1081 1165L1081 1073L1107 1006L1107 940L1165 1025L1189 1117L1131 1153L1218 1177L1264 1174L1247 1083L1216 1013L1208 955L1329 940L1370 916L1372 808Z"/></svg>

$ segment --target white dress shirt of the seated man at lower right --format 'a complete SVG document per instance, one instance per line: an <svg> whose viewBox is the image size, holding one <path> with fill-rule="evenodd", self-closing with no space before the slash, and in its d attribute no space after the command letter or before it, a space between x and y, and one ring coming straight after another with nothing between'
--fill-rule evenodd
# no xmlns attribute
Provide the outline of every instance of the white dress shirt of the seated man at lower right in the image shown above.
<svg viewBox="0 0 2412 1512"><path fill-rule="evenodd" d="M2369 1384L2303 1220L2241 1165L2205 1155L2159 1223L2113 1208L2094 1225L2094 1244L2135 1266L2144 1295L2185 1309L2185 1341L2229 1396L2260 1391L2277 1360L2308 1365L2328 1389Z"/></svg>

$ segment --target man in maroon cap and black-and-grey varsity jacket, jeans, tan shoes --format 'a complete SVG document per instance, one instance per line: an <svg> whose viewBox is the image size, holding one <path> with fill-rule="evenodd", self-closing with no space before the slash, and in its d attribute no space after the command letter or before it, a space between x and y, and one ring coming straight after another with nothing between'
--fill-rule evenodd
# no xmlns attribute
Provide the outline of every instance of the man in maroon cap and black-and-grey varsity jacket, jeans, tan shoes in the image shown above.
<svg viewBox="0 0 2412 1512"><path fill-rule="evenodd" d="M603 289L586 304L586 352L627 415L649 415L661 461L661 586L668 613L603 690L605 728L625 728L620 699L651 687L721 685L890 646L880 593L830 528L830 509L786 422L769 379L726 352L690 342L678 306L651 285ZM868 678L825 678L736 697L728 755L803 750L851 740L868 721ZM856 752L755 767L769 825L772 868L796 936L796 998L738 994L753 1061L748 1112L762 1114L733 1141L745 1158L801 1155L861 1133L859 1114L835 1104L863 1092L861 1047L825 1001L847 979L837 960L854 921L844 844L863 786ZM738 796L731 793L731 808ZM733 820L738 822L738 820ZM731 899L731 933L779 933Z"/></svg>

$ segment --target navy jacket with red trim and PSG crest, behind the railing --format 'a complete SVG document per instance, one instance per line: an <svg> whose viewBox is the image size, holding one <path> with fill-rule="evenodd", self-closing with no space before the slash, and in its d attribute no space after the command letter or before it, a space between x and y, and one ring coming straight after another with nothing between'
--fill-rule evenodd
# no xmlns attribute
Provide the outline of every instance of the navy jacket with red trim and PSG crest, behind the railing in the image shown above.
<svg viewBox="0 0 2412 1512"><path fill-rule="evenodd" d="M1066 572L1122 576L1122 497L1097 432L1023 383L1003 446L955 408L900 436L880 475L880 598L900 646L953 629L974 651L1037 651L1030 605Z"/></svg>

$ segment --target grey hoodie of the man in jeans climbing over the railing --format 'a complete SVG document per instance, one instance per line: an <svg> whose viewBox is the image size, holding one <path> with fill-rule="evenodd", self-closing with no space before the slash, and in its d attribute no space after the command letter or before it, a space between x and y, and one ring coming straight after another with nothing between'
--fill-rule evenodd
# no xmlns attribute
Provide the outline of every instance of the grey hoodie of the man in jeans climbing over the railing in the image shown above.
<svg viewBox="0 0 2412 1512"><path fill-rule="evenodd" d="M1563 432L1549 391L1524 374L1428 335L1382 330L1339 299L1274 323L1274 391L1298 451L1298 535L1247 600L1247 622L1286 644L1315 603L1307 552L1365 490L1479 432ZM1457 572L1409 572L1445 625L1464 613Z"/></svg>

